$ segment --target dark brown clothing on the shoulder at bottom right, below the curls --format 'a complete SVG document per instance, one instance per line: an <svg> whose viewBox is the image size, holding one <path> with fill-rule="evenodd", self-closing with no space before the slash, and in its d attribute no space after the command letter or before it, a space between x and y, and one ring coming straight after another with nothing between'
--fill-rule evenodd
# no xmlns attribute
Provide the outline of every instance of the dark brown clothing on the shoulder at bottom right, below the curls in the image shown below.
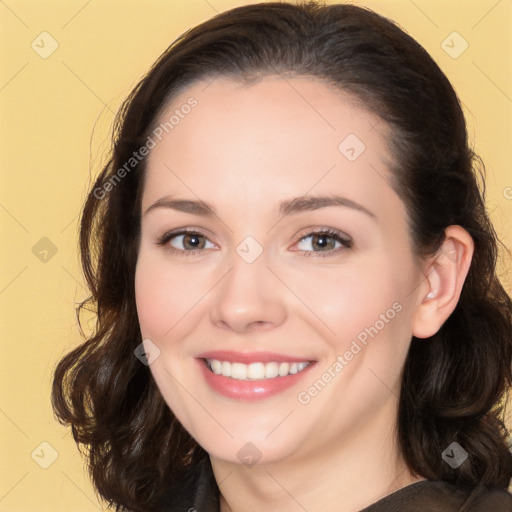
<svg viewBox="0 0 512 512"><path fill-rule="evenodd" d="M361 512L511 512L512 495L505 489L462 487L424 480L408 485Z"/></svg>

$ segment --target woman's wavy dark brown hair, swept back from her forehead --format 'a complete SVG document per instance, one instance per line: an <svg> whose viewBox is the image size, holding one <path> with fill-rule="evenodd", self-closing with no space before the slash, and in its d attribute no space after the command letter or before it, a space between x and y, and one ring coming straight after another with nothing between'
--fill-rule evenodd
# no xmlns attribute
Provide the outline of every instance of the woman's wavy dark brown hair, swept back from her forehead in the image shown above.
<svg viewBox="0 0 512 512"><path fill-rule="evenodd" d="M52 406L71 425L78 448L88 447L97 492L116 510L156 509L169 482L185 479L207 453L134 357L142 341L134 275L146 160L108 193L94 191L107 190L162 110L190 84L275 74L332 84L384 120L392 186L406 206L415 257L435 255L450 225L473 238L455 310L434 336L412 339L397 436L414 474L506 487L512 301L497 277L500 242L485 208L484 167L469 147L458 97L429 54L393 21L354 5L275 2L218 14L169 46L118 112L112 153L85 201L80 254L91 295L76 309L86 340L56 365ZM80 324L84 311L95 314L88 336ZM457 469L441 457L454 441L469 454Z"/></svg>

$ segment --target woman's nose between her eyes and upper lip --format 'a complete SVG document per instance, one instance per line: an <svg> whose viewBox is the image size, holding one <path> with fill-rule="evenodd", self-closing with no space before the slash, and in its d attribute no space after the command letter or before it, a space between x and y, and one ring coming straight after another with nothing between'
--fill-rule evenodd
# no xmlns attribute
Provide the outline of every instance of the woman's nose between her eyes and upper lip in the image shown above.
<svg viewBox="0 0 512 512"><path fill-rule="evenodd" d="M231 267L212 296L210 318L216 327L244 333L275 328L285 321L283 284L264 256L248 263L233 254Z"/></svg>

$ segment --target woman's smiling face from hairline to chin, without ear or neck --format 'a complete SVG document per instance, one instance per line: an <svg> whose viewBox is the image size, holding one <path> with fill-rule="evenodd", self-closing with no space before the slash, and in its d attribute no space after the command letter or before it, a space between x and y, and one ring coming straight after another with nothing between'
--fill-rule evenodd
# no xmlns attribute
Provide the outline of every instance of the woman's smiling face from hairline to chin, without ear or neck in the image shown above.
<svg viewBox="0 0 512 512"><path fill-rule="evenodd" d="M249 465L391 431L423 292L384 122L274 76L196 83L159 121L135 284L173 413Z"/></svg>

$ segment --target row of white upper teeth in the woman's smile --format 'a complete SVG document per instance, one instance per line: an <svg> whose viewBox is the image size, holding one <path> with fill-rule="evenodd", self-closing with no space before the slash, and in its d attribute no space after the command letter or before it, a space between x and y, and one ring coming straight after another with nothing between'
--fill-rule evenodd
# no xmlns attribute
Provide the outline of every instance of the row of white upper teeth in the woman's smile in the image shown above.
<svg viewBox="0 0 512 512"><path fill-rule="evenodd" d="M213 373L231 377L236 380L262 380L286 377L301 372L309 366L307 361L302 363L230 363L217 359L207 359L208 367Z"/></svg>

